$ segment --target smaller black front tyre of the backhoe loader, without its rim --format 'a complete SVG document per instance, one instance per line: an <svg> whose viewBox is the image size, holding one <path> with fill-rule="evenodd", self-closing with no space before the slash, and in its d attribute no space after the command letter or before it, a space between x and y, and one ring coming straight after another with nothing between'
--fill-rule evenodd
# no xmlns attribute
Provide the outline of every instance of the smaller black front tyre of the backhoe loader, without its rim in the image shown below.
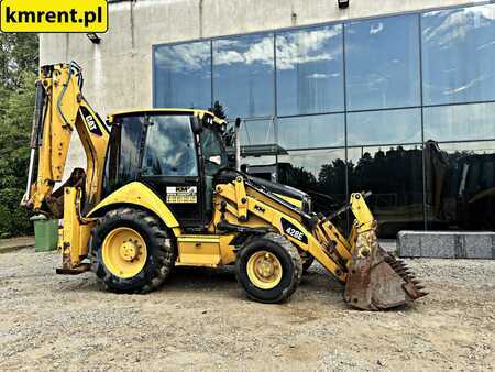
<svg viewBox="0 0 495 372"><path fill-rule="evenodd" d="M248 274L250 258L260 251L267 251L275 255L282 266L282 278L271 289L260 288L250 280ZM301 275L302 261L297 248L278 233L267 233L263 237L254 238L241 249L235 260L238 282L250 298L260 303L276 304L287 300L299 285Z"/></svg>

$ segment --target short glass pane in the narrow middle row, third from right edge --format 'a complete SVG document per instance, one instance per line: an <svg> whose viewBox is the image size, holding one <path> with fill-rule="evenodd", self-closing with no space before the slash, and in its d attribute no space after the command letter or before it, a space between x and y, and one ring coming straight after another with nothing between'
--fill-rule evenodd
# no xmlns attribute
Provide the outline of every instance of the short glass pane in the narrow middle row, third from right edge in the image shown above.
<svg viewBox="0 0 495 372"><path fill-rule="evenodd" d="M341 113L278 119L278 143L283 149L343 146L344 133Z"/></svg>

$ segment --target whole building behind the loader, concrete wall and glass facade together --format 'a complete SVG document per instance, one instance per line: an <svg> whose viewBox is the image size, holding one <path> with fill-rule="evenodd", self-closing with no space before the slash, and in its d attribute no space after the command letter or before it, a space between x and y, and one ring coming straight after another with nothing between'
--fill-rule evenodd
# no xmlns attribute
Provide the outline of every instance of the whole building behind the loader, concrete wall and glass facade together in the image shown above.
<svg viewBox="0 0 495 372"><path fill-rule="evenodd" d="M77 61L101 114L219 100L253 172L322 211L371 189L386 236L494 230L495 4L473 3L118 1L101 44L42 35L41 62Z"/></svg>

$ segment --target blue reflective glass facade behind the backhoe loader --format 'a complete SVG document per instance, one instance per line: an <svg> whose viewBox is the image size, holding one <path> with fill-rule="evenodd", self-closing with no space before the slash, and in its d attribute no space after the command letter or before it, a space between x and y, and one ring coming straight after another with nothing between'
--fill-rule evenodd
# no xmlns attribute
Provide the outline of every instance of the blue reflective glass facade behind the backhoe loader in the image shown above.
<svg viewBox="0 0 495 372"><path fill-rule="evenodd" d="M243 118L249 171L320 211L372 190L383 237L495 230L495 4L155 45L153 68L155 107Z"/></svg>

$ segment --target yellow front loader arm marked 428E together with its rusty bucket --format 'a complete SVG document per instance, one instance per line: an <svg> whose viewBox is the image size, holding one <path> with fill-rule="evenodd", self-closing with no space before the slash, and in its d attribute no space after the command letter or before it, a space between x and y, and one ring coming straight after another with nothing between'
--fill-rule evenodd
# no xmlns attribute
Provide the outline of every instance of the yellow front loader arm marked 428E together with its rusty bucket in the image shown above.
<svg viewBox="0 0 495 372"><path fill-rule="evenodd" d="M377 222L365 201L367 194L352 194L342 208L350 209L355 218L345 238L331 217L307 215L246 175L217 185L216 192L217 227L277 231L344 283L344 300L353 307L381 310L426 295L405 264L378 245Z"/></svg>

